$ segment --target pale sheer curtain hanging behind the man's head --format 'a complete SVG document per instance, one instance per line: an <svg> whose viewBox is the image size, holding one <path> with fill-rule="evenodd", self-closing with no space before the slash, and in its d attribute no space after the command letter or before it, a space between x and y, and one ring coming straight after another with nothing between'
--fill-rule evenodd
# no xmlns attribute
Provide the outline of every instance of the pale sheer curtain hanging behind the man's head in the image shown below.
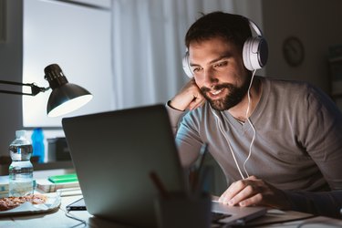
<svg viewBox="0 0 342 228"><path fill-rule="evenodd" d="M252 2L252 1L251 1ZM115 107L126 109L171 99L186 78L184 36L192 23L215 10L244 12L246 1L113 0L112 67Z"/></svg>

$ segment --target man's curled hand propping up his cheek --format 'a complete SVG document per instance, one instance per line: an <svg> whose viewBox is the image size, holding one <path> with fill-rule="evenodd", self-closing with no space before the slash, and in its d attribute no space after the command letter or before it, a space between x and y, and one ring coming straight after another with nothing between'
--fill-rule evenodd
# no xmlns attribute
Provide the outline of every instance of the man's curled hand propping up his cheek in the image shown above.
<svg viewBox="0 0 342 228"><path fill-rule="evenodd" d="M170 106L173 109L197 109L202 106L205 98L202 96L201 89L196 85L195 80L192 78L181 91L171 99Z"/></svg>

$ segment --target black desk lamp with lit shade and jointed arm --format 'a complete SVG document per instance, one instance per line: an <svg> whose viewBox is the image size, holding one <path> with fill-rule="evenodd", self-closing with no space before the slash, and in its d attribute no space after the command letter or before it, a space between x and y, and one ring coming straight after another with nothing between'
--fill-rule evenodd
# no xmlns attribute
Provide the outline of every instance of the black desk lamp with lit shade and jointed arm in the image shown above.
<svg viewBox="0 0 342 228"><path fill-rule="evenodd" d="M40 92L45 92L49 88L52 89L50 97L47 101L47 116L58 117L81 108L90 101L93 96L87 89L78 85L68 83L67 78L62 69L57 64L51 64L44 69L45 79L47 79L49 87L40 88L34 83L19 83L12 81L0 80L0 84L26 86L31 88L31 93L16 92L9 90L0 90L0 93L36 96Z"/></svg>

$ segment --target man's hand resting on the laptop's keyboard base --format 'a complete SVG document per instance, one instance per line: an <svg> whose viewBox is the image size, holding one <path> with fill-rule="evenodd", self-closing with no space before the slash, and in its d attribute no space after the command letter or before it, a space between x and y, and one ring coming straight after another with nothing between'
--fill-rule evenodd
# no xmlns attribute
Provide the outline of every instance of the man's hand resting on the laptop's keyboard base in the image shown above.
<svg viewBox="0 0 342 228"><path fill-rule="evenodd" d="M276 189L271 184L251 176L236 181L223 192L219 202L239 206L269 206L281 210L289 210L290 202L285 192Z"/></svg>

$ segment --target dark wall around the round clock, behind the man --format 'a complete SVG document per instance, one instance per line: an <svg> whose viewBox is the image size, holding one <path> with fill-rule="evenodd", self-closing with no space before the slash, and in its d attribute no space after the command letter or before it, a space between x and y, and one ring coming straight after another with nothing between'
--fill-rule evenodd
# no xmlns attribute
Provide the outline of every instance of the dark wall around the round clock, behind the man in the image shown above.
<svg viewBox="0 0 342 228"><path fill-rule="evenodd" d="M342 44L342 1L263 0L264 36L269 43L266 76L306 80L329 93L328 47ZM282 45L296 36L305 59L298 67L286 64Z"/></svg>

